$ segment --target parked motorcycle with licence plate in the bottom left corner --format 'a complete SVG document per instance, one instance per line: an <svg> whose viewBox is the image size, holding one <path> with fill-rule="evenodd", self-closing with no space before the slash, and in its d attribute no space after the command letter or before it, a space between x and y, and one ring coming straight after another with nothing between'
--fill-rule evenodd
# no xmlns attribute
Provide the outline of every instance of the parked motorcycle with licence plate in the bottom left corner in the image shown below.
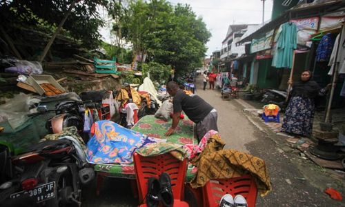
<svg viewBox="0 0 345 207"><path fill-rule="evenodd" d="M6 146L0 150L3 206L80 205L81 185L95 177L68 139L42 141L14 157Z"/></svg>

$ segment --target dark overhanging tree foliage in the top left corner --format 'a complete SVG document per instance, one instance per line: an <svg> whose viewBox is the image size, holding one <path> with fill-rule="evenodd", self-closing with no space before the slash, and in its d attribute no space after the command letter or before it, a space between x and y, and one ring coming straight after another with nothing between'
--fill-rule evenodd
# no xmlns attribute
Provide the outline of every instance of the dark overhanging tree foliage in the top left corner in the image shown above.
<svg viewBox="0 0 345 207"><path fill-rule="evenodd" d="M3 0L0 3L1 22L26 26L44 32L55 32L73 0ZM106 6L106 0L77 1L75 8L63 25L66 35L81 40L86 48L99 46L99 26L103 25L97 6Z"/></svg>

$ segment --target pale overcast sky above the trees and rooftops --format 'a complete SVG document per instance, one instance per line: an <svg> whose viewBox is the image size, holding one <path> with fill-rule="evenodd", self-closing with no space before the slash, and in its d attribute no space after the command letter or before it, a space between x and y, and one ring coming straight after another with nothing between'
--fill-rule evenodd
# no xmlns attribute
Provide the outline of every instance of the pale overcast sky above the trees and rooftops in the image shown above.
<svg viewBox="0 0 345 207"><path fill-rule="evenodd" d="M175 6L177 3L189 4L197 17L202 17L212 37L207 43L207 56L214 50L221 49L221 42L226 37L230 24L262 23L262 0L168 0ZM265 21L270 19L273 0L265 1ZM106 18L106 12L100 10ZM110 23L109 23L110 26ZM109 29L102 28L103 39L110 41Z"/></svg>

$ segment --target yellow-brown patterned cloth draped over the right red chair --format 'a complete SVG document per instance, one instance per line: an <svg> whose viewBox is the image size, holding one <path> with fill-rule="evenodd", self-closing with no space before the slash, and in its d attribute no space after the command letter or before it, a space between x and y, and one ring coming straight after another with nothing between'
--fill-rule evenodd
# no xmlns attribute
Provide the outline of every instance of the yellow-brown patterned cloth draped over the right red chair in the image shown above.
<svg viewBox="0 0 345 207"><path fill-rule="evenodd" d="M261 196L272 190L264 160L237 150L223 150L223 147L224 141L219 136L210 137L204 151L191 160L198 170L190 186L198 188L210 179L229 179L250 173Z"/></svg>

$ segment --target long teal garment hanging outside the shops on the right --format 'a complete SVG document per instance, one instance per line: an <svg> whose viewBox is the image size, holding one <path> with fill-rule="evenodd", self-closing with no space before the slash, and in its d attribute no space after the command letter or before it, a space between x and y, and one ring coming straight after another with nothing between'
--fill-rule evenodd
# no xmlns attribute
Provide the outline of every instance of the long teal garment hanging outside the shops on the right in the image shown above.
<svg viewBox="0 0 345 207"><path fill-rule="evenodd" d="M297 28L295 23L282 24L282 32L278 34L272 66L275 68L291 68L293 66L293 50L297 48Z"/></svg>

